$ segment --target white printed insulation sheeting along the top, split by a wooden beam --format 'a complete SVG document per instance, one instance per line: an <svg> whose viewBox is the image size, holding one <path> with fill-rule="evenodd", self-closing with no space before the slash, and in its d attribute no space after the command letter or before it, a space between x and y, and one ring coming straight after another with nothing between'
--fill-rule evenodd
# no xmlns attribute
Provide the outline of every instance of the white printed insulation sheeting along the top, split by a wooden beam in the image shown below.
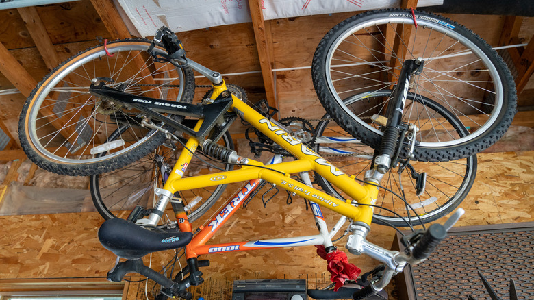
<svg viewBox="0 0 534 300"><path fill-rule="evenodd" d="M186 32L219 25L251 22L248 0L118 0L141 36L153 36L165 25ZM356 12L398 7L400 0L262 0L264 18ZM443 0L419 0L418 7Z"/></svg>

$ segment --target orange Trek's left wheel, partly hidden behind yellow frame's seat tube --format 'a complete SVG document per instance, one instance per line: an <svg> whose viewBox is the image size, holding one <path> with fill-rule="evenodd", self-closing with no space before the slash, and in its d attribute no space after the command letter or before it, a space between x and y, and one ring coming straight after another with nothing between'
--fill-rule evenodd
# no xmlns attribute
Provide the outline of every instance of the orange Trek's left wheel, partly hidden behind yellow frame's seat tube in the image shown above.
<svg viewBox="0 0 534 300"><path fill-rule="evenodd" d="M119 132L114 132L109 140L114 140L118 136L120 136ZM233 149L233 141L229 132L225 132L218 143ZM162 145L133 164L108 173L92 175L90 177L90 191L95 208L106 220L109 218L127 218L129 212L136 205L141 205L146 209L153 208L158 200L154 194L154 188L163 187L160 165L164 163L173 168L182 149L181 145L177 145L176 150ZM201 149L198 149L197 152L202 153ZM233 169L233 166L223 162L210 161L210 163L218 168L223 168L225 171ZM209 166L193 156L183 177L209 173L214 166ZM183 205L188 205L200 197L199 203L188 212L188 219L193 222L212 207L223 194L226 186L223 184L195 190L183 190L175 196L182 199ZM167 218L168 215L173 215L170 208L165 213Z"/></svg>

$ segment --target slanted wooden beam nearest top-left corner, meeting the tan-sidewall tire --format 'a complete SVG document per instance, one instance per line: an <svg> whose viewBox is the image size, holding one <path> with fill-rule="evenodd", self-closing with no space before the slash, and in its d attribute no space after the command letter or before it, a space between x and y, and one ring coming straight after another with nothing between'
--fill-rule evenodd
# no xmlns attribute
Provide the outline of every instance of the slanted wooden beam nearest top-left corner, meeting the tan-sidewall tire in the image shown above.
<svg viewBox="0 0 534 300"><path fill-rule="evenodd" d="M44 24L41 21L39 14L34 6L28 8L17 8L18 14L21 14L21 18L26 24L31 38L34 40L35 45L39 53L42 55L44 63L50 70L53 70L61 60L58 53L55 51L55 47L50 40L50 36L47 29L44 28Z"/></svg>

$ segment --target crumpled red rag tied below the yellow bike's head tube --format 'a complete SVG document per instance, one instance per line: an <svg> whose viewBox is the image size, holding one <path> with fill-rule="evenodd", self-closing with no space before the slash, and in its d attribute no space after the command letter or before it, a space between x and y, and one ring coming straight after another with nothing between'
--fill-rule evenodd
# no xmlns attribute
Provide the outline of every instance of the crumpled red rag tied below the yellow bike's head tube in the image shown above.
<svg viewBox="0 0 534 300"><path fill-rule="evenodd" d="M335 250L326 253L325 247L322 245L316 245L317 254L327 260L328 271L330 272L330 280L335 283L334 291L338 291L343 286L346 280L356 280L361 270L348 262L346 253L343 251Z"/></svg>

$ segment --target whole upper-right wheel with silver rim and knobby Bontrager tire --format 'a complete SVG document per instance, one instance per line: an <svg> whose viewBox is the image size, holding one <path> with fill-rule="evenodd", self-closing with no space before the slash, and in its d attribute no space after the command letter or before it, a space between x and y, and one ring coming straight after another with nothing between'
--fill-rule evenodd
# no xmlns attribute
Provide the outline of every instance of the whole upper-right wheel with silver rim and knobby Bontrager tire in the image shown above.
<svg viewBox="0 0 534 300"><path fill-rule="evenodd" d="M343 100L368 90L394 89L403 62L418 58L422 68L409 83L409 92L450 110L469 132L419 140L416 160L465 158L503 136L516 112L510 71L484 40L442 16L379 10L342 21L316 49L314 87L322 105L346 132L377 148L383 128L370 117L385 116L390 99L362 97L350 106ZM406 105L403 121L411 123L419 113Z"/></svg>

